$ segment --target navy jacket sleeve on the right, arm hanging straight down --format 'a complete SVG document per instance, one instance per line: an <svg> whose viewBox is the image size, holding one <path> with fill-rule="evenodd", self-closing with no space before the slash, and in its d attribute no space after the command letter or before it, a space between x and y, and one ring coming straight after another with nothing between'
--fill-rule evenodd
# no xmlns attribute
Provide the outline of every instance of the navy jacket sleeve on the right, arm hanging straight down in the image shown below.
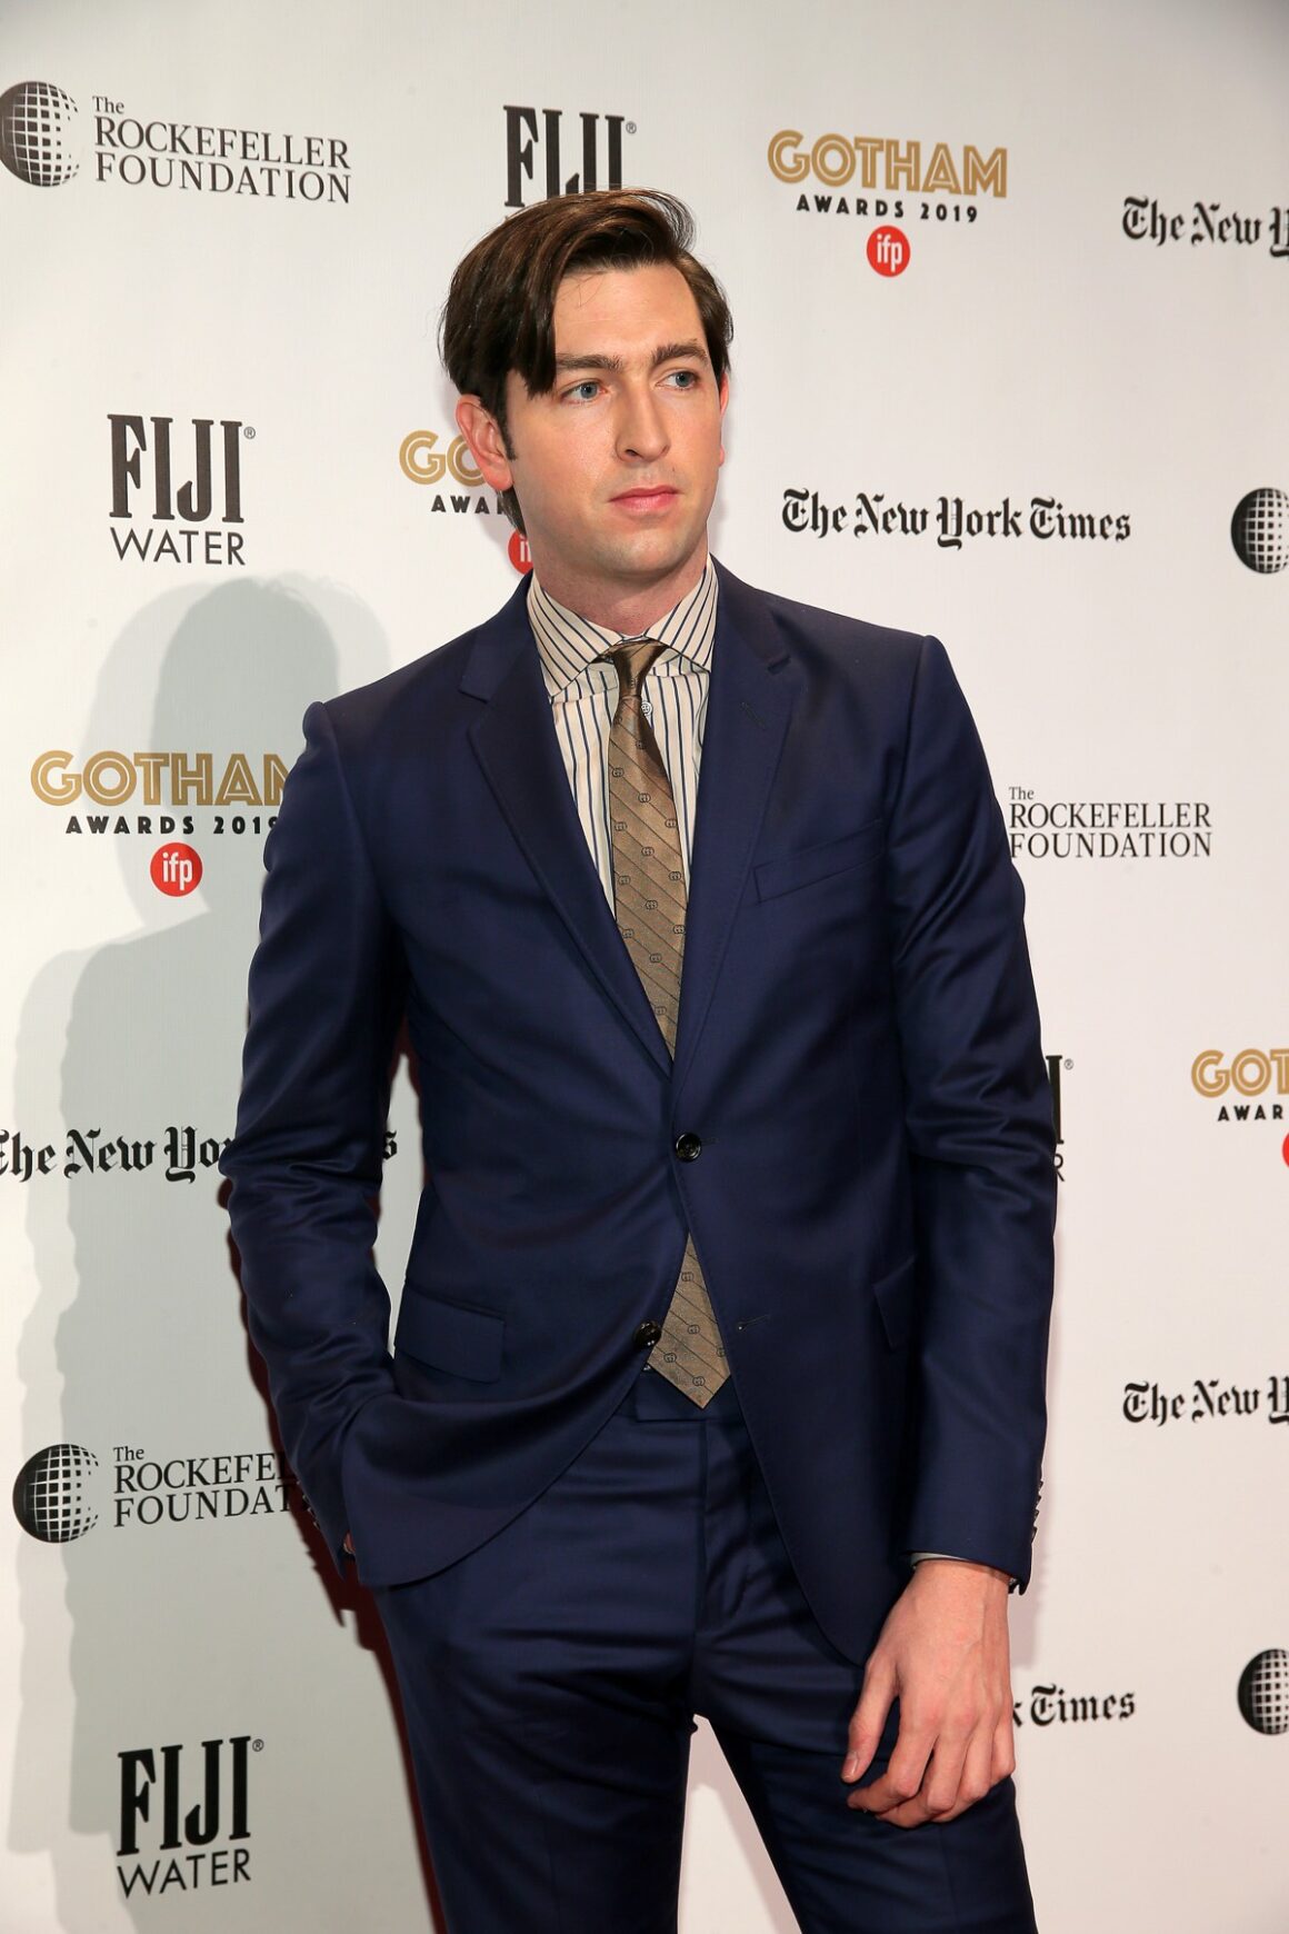
<svg viewBox="0 0 1289 1934"><path fill-rule="evenodd" d="M918 659L889 868L922 1304L904 1545L1024 1584L1046 1429L1051 1089L1024 892L935 638Z"/></svg>

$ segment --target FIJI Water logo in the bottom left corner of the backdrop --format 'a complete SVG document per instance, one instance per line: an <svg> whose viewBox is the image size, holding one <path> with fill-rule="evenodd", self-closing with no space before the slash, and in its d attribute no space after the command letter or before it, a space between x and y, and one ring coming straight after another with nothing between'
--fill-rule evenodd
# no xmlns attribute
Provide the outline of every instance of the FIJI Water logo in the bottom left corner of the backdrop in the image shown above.
<svg viewBox="0 0 1289 1934"><path fill-rule="evenodd" d="M131 1893L189 1893L251 1878L251 1752L263 1739L234 1733L199 1748L120 1752L116 1878ZM193 1764L195 1762L195 1764Z"/></svg>

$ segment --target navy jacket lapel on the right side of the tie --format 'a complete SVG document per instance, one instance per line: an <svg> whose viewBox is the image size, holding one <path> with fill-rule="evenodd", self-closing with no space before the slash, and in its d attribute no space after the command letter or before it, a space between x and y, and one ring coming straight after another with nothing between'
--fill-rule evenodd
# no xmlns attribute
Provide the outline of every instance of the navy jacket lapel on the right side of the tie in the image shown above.
<svg viewBox="0 0 1289 1934"><path fill-rule="evenodd" d="M684 923L676 1083L684 1081L711 1008L794 696L788 652L763 600L723 567L717 571L721 605Z"/></svg>

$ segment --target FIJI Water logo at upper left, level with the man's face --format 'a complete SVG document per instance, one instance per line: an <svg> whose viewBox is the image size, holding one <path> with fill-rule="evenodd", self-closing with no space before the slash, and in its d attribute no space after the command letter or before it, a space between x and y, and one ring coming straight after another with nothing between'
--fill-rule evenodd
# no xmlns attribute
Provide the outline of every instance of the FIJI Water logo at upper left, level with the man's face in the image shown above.
<svg viewBox="0 0 1289 1934"><path fill-rule="evenodd" d="M112 425L112 543L122 563L245 565L242 443L249 424L195 416L108 414ZM176 514L178 513L178 514ZM147 518L139 530L135 518Z"/></svg>

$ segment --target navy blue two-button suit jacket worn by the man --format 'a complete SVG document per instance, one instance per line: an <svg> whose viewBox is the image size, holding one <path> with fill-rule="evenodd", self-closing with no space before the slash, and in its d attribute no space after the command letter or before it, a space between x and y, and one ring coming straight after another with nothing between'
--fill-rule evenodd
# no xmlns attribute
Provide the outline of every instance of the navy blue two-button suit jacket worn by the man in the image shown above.
<svg viewBox="0 0 1289 1934"><path fill-rule="evenodd" d="M284 1443L369 1584L450 1565L622 1400L690 1228L788 1553L858 1659L910 1549L1030 1563L1051 1099L980 743L933 638L721 571L673 1064L524 594L313 706L269 839L224 1172ZM404 1019L425 1186L390 1356Z"/></svg>

